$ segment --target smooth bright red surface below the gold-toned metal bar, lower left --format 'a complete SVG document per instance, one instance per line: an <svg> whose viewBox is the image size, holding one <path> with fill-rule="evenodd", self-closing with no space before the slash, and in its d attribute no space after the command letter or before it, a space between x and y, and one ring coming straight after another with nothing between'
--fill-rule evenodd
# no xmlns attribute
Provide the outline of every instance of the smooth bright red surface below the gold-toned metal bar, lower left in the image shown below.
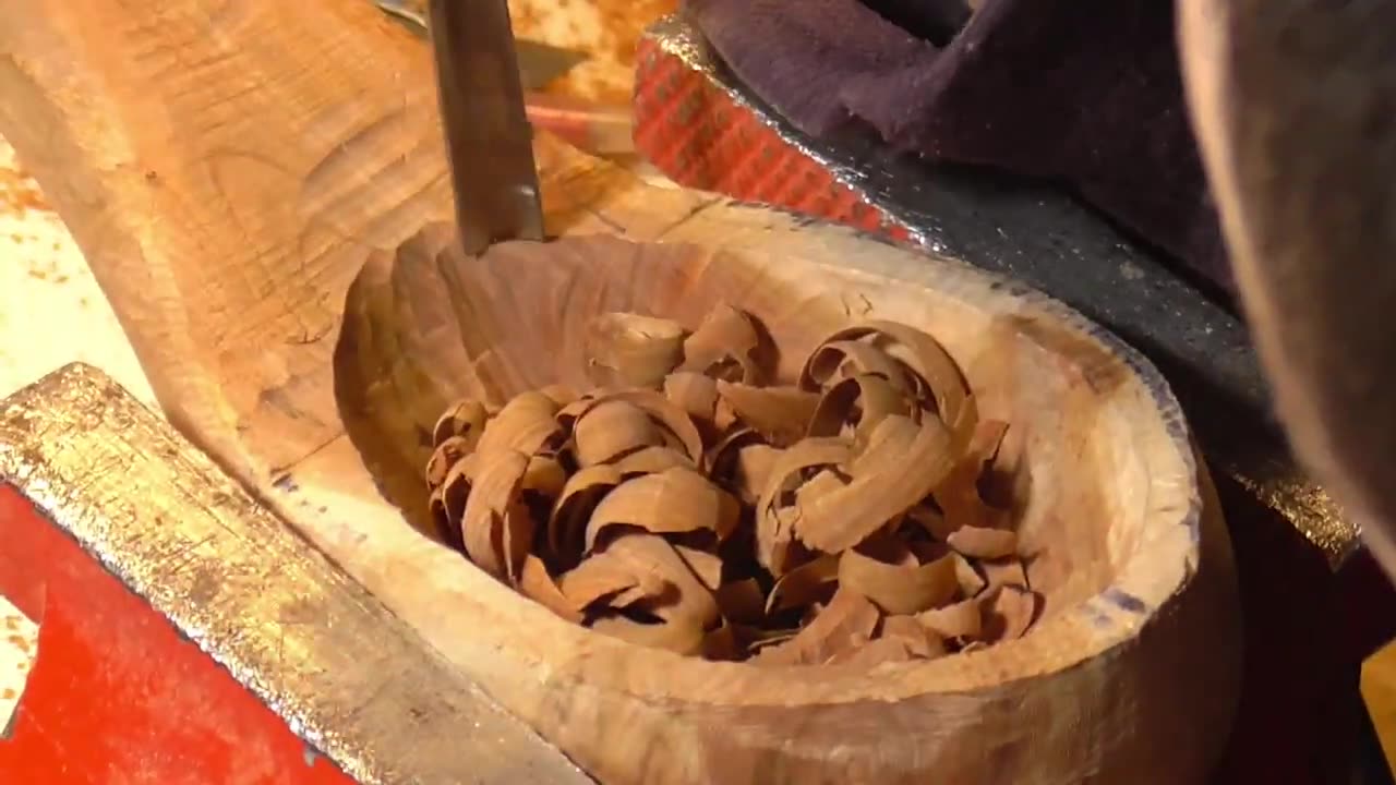
<svg viewBox="0 0 1396 785"><path fill-rule="evenodd" d="M7 485L0 594L39 624L0 782L352 782Z"/></svg>

